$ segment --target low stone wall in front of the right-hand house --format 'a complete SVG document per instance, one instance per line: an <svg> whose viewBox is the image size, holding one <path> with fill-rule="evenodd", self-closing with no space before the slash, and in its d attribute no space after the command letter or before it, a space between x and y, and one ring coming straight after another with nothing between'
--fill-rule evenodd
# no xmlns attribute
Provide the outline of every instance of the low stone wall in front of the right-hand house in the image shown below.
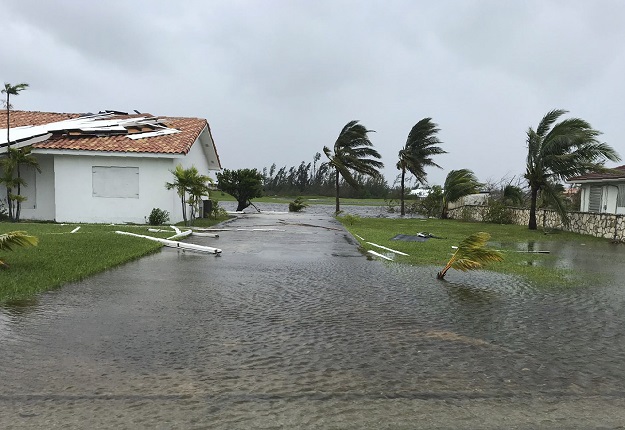
<svg viewBox="0 0 625 430"><path fill-rule="evenodd" d="M487 206L462 206L451 209L449 218L482 222ZM529 223L529 209L510 209L515 224ZM539 209L536 223L539 228L550 228L574 233L588 234L606 239L625 241L625 215L598 214L589 212L569 212L570 224L565 226L557 212Z"/></svg>

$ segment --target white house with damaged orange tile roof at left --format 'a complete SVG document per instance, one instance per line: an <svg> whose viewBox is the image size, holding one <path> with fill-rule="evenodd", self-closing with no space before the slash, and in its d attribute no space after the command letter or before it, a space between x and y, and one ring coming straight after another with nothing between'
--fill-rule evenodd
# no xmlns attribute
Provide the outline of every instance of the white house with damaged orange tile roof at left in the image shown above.
<svg viewBox="0 0 625 430"><path fill-rule="evenodd" d="M0 114L6 127L6 112ZM41 173L27 170L22 219L143 223L153 208L182 220L180 197L165 188L181 164L201 174L221 164L208 122L102 112L96 115L12 111L12 147L32 145ZM0 129L0 156L6 152ZM0 187L0 199L6 195Z"/></svg>

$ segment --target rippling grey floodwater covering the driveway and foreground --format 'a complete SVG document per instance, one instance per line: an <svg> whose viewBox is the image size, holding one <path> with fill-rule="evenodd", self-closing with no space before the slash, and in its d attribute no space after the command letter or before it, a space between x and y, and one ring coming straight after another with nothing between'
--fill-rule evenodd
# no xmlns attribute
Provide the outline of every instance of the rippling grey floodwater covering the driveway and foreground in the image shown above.
<svg viewBox="0 0 625 430"><path fill-rule="evenodd" d="M0 308L0 428L625 428L622 245L552 249L597 282L543 289L367 260L322 214L227 227Z"/></svg>

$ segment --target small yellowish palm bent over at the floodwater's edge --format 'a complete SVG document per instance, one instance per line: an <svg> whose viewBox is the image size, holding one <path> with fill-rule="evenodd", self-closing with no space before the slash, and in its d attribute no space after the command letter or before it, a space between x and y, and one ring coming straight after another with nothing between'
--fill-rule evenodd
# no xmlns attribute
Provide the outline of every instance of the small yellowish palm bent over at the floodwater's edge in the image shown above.
<svg viewBox="0 0 625 430"><path fill-rule="evenodd" d="M502 261L503 256L494 249L486 248L486 243L490 239L490 234L483 231L473 233L465 238L447 262L443 270L438 272L436 277L443 279L449 269L467 270L481 269L486 263Z"/></svg>

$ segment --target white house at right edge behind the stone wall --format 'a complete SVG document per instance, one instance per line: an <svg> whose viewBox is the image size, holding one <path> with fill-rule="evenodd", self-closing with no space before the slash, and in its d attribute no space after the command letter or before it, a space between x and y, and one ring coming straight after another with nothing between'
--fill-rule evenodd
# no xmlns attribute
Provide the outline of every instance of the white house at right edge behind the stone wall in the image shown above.
<svg viewBox="0 0 625 430"><path fill-rule="evenodd" d="M625 214L625 166L568 178L581 185L581 212Z"/></svg>

